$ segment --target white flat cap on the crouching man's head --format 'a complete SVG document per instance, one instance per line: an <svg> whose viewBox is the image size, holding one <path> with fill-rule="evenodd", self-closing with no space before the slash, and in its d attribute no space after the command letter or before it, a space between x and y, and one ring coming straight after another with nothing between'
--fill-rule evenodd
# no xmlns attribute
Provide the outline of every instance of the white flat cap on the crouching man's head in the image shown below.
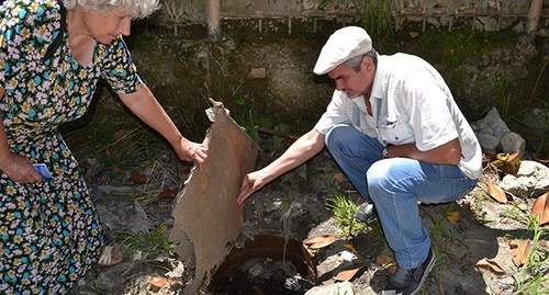
<svg viewBox="0 0 549 295"><path fill-rule="evenodd" d="M314 66L314 73L324 75L349 58L363 55L372 49L372 39L359 26L346 26L329 36Z"/></svg>

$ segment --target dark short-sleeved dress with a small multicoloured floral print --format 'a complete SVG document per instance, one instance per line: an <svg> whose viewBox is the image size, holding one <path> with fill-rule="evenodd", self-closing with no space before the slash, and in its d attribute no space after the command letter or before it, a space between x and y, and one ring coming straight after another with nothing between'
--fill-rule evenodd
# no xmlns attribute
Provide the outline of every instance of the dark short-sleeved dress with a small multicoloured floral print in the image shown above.
<svg viewBox="0 0 549 295"><path fill-rule="evenodd" d="M44 163L53 179L13 182L0 171L0 294L64 294L96 263L103 245L98 214L57 126L82 116L100 78L117 93L142 81L121 37L97 44L92 63L72 57L54 0L0 5L0 111L11 152Z"/></svg>

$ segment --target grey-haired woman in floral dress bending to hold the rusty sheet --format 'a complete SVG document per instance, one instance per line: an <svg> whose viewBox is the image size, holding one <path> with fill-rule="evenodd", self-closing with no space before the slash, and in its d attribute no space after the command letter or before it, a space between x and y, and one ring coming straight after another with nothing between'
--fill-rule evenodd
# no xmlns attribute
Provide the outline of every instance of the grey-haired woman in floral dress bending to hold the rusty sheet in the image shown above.
<svg viewBox="0 0 549 295"><path fill-rule="evenodd" d="M67 293L101 256L97 212L57 131L86 113L100 78L182 160L202 169L208 157L139 79L122 39L158 0L60 1L0 5L0 294Z"/></svg>

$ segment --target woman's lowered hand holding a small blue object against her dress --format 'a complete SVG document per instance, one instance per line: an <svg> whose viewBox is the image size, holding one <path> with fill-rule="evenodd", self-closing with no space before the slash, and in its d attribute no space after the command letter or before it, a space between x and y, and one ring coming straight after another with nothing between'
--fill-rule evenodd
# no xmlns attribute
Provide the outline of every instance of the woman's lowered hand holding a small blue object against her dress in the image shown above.
<svg viewBox="0 0 549 295"><path fill-rule="evenodd" d="M5 159L1 159L0 170L2 170L14 182L42 182L42 175L34 170L31 160L18 154L10 154L10 156Z"/></svg>

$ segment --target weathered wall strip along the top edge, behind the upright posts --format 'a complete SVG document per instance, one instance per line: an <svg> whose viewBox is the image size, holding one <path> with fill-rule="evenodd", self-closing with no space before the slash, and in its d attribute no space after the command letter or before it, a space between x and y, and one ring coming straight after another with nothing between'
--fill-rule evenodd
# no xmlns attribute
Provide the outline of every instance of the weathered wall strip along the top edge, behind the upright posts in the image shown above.
<svg viewBox="0 0 549 295"><path fill-rule="evenodd" d="M208 23L212 0L161 0L158 21ZM219 2L221 20L231 19L348 19L357 20L385 0L213 0ZM470 22L485 31L517 26L523 30L531 0L388 0L389 11L397 25L423 22L434 27L450 27L456 22ZM170 12L171 11L171 12ZM544 0L539 29L548 27L549 0ZM344 20L345 21L345 20ZM547 32L542 32L547 34Z"/></svg>

